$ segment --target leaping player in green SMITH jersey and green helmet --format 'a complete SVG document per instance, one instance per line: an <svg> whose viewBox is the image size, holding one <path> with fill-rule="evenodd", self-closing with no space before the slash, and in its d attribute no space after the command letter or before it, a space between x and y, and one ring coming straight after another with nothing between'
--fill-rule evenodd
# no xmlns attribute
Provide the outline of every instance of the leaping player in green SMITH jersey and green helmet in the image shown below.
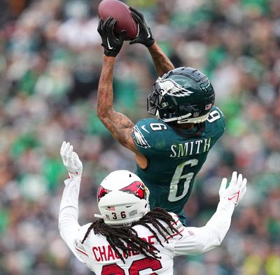
<svg viewBox="0 0 280 275"><path fill-rule="evenodd" d="M148 95L148 112L156 118L134 125L113 109L113 67L125 38L125 32L115 36L113 18L99 21L104 58L97 114L113 137L135 153L136 173L150 189L151 208L165 208L185 222L183 207L209 150L223 135L224 116L214 106L214 88L207 76L190 67L175 69L153 39L144 16L134 9L132 16L139 36L130 44L148 48L159 76Z"/></svg>

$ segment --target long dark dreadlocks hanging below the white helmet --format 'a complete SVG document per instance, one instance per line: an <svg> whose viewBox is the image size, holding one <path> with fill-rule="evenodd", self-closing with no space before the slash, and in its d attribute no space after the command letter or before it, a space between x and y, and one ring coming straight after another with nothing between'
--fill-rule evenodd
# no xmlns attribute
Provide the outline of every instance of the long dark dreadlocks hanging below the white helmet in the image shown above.
<svg viewBox="0 0 280 275"><path fill-rule="evenodd" d="M179 231L174 227L174 223L176 222L173 219L172 215L170 215L163 208L154 208L150 212L146 213L146 215L141 217L140 220L138 220L137 222L133 222L130 227L113 227L112 230L112 227L109 224L106 224L104 220L99 219L97 221L94 221L87 229L82 243L84 243L84 241L87 239L88 234L90 234L90 231L93 229L94 234L102 234L106 237L111 248L113 248L115 253L124 263L125 259L122 253L120 253L119 249L123 250L125 257L128 257L129 251L134 251L139 252L146 257L155 257L158 259L159 257L157 256L157 253L160 251L151 243L148 243L147 241L141 239L132 227L139 224L148 228L155 236L155 239L157 239L160 245L163 246L162 241L160 241L160 238L158 237L158 234L150 226L150 224L152 224L153 227L157 229L158 233L163 237L163 239L165 239L165 241L167 241L168 243L167 236L172 236L172 234L162 225L160 220L168 225L172 233L180 234Z"/></svg>

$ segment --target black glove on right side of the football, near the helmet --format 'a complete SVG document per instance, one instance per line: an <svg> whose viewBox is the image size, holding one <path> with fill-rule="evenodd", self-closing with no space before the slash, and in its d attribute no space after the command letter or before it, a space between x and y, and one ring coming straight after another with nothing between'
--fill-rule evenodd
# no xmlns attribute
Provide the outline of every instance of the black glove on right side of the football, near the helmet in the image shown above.
<svg viewBox="0 0 280 275"><path fill-rule="evenodd" d="M139 35L136 39L130 41L130 45L134 43L141 43L146 47L150 47L155 43L155 39L153 38L153 34L151 29L147 26L145 22L145 18L143 13L140 13L135 8L130 7L130 11L132 11L132 17L137 21L139 25Z"/></svg>

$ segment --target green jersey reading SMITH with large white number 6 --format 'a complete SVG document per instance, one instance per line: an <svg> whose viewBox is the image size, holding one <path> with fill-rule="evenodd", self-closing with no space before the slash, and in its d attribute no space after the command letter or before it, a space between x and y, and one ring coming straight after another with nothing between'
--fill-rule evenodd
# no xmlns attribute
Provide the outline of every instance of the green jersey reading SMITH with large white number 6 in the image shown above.
<svg viewBox="0 0 280 275"><path fill-rule="evenodd" d="M176 213L183 221L185 206L195 176L209 150L225 130L223 113L213 107L199 137L183 137L160 119L142 119L134 126L134 143L148 159L148 167L137 166L136 174L150 190L150 206ZM191 133L191 130L181 130Z"/></svg>

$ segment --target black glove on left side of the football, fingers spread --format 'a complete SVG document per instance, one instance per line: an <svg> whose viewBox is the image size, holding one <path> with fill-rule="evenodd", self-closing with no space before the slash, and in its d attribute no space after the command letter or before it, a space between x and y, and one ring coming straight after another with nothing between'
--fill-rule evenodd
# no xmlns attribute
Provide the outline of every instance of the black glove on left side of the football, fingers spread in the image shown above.
<svg viewBox="0 0 280 275"><path fill-rule="evenodd" d="M114 34L114 27L117 20L113 18L107 18L104 22L102 18L99 19L97 32L99 32L102 39L102 46L104 48L104 55L116 57L123 46L126 32L123 30L118 37Z"/></svg>

